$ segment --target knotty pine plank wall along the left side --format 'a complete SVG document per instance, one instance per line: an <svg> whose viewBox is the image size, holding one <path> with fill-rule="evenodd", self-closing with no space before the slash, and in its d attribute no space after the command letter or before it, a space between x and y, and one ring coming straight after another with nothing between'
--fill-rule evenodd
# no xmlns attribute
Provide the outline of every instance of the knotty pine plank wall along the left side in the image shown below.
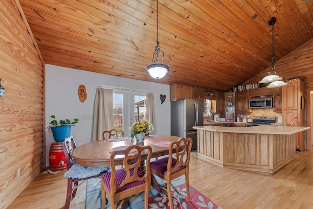
<svg viewBox="0 0 313 209"><path fill-rule="evenodd" d="M44 166L44 62L18 0L0 1L0 208ZM16 171L20 169L21 175Z"/></svg>

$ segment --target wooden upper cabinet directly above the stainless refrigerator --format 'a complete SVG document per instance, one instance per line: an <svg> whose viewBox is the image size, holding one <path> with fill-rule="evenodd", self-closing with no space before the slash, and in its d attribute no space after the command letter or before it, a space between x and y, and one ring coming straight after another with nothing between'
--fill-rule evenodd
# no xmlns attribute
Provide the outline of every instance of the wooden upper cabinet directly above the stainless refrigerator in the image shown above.
<svg viewBox="0 0 313 209"><path fill-rule="evenodd" d="M170 101L179 101L182 99L192 99L193 88L192 86L185 86L182 84L170 85Z"/></svg>

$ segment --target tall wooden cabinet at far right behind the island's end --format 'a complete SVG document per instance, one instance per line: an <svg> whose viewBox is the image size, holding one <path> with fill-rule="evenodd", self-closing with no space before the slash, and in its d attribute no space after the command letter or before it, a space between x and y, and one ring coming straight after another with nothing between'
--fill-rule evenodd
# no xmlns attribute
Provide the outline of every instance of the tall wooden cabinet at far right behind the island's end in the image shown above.
<svg viewBox="0 0 313 209"><path fill-rule="evenodd" d="M283 125L287 125L292 118L297 117L293 126L304 126L304 82L302 80L288 81L282 88ZM296 150L304 149L304 132L295 135Z"/></svg>

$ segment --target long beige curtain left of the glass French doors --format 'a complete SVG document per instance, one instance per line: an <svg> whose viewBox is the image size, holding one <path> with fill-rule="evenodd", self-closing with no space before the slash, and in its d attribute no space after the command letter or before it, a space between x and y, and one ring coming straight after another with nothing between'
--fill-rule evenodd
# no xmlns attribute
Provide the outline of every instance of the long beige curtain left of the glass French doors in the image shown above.
<svg viewBox="0 0 313 209"><path fill-rule="evenodd" d="M113 90L97 88L94 99L92 140L102 140L102 132L113 128Z"/></svg>

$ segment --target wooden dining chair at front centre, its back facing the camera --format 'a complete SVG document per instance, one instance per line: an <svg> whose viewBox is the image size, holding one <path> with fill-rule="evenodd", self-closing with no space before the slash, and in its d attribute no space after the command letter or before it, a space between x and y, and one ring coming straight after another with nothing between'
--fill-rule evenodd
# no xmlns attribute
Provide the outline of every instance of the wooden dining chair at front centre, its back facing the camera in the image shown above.
<svg viewBox="0 0 313 209"><path fill-rule="evenodd" d="M122 161L124 168L115 168L116 155L124 155ZM111 209L116 201L145 192L144 208L148 209L148 195L151 187L150 159L151 146L132 145L124 150L113 150L110 155L112 171L102 174L102 209L105 208L106 194L111 200ZM146 165L144 166L144 160Z"/></svg>

